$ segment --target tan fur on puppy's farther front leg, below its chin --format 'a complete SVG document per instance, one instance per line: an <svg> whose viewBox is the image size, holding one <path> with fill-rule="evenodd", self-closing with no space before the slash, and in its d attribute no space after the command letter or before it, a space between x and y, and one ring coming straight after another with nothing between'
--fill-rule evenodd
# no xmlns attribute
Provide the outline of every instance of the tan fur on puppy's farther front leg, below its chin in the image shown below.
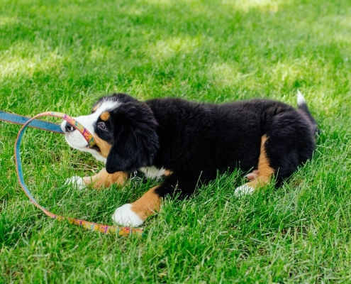
<svg viewBox="0 0 351 284"><path fill-rule="evenodd" d="M129 174L125 172L107 173L106 169L103 168L99 173L92 177L84 177L84 183L91 185L95 189L101 189L102 187L109 187L113 184L124 185L128 179Z"/></svg>

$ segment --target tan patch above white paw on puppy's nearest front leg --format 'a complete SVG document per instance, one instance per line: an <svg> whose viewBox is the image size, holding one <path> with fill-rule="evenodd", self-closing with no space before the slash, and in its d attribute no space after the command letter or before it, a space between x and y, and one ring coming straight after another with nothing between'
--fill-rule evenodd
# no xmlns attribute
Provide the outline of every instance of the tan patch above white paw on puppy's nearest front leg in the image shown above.
<svg viewBox="0 0 351 284"><path fill-rule="evenodd" d="M130 209L138 214L140 219L145 221L147 217L160 210L161 198L155 193L155 190L160 185L152 187L150 190L144 193L142 197L132 203Z"/></svg>

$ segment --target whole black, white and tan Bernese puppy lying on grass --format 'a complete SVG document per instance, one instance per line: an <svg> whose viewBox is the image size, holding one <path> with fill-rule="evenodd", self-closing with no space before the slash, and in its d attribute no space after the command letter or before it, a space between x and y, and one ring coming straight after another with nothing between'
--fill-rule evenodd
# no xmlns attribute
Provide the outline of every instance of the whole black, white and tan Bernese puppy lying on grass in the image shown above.
<svg viewBox="0 0 351 284"><path fill-rule="evenodd" d="M271 181L279 185L312 157L316 146L316 121L299 92L297 101L298 109L268 99L205 104L174 98L140 102L128 94L101 97L91 114L77 117L96 146L88 148L66 121L61 127L69 146L91 153L106 167L69 182L100 188L123 185L135 171L163 177L138 200L116 209L112 219L123 226L140 226L160 209L163 197L189 196L218 171L249 173L249 182L235 195Z"/></svg>

